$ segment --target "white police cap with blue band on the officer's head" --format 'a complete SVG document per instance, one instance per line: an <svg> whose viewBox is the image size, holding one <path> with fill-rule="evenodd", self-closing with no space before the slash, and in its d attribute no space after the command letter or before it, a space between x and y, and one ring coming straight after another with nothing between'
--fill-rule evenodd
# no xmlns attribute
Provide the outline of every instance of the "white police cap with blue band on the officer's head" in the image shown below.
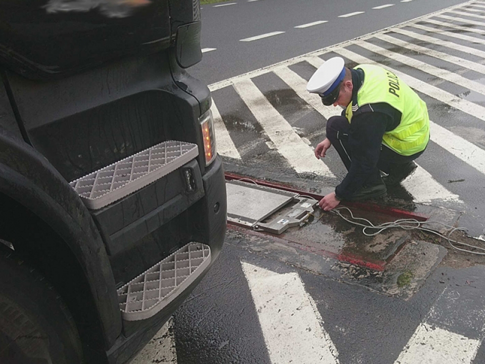
<svg viewBox="0 0 485 364"><path fill-rule="evenodd" d="M312 78L310 78L307 84L307 91L320 96L327 96L344 79L344 76L344 59L341 57L330 58L318 67Z"/></svg>

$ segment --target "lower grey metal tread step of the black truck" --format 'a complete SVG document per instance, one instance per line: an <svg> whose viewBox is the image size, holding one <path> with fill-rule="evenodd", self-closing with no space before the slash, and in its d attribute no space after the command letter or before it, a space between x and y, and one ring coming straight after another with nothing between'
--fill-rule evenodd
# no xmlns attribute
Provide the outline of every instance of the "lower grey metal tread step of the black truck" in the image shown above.
<svg viewBox="0 0 485 364"><path fill-rule="evenodd" d="M152 317L196 280L211 262L211 248L188 243L120 289L121 315L126 321Z"/></svg>

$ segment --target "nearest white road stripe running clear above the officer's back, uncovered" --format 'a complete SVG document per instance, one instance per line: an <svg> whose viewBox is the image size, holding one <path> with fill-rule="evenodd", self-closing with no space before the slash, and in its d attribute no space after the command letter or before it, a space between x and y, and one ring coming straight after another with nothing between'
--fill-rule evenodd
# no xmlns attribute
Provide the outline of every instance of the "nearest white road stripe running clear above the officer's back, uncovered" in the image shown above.
<svg viewBox="0 0 485 364"><path fill-rule="evenodd" d="M460 76L459 74L456 74L454 72L450 72L450 71L447 71L446 69L438 68L428 63L418 61L414 58L407 57L399 53L386 50L384 48L378 47L378 45L374 45L365 41L359 42L359 46L371 52L379 54L381 56L401 62L410 67L414 67L422 72L426 72L435 77L440 77L441 79L444 79L449 82L453 82L459 86L469 88L474 92L485 95L485 85L476 81L469 80L468 78Z"/></svg>

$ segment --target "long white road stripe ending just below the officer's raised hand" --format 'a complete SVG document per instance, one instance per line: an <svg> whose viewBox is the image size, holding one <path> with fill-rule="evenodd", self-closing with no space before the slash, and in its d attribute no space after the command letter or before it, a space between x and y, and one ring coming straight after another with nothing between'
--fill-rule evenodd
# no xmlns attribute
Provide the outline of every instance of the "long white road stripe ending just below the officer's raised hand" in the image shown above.
<svg viewBox="0 0 485 364"><path fill-rule="evenodd" d="M315 158L313 149L302 141L250 79L235 82L233 87L278 148L278 152L295 171L334 177L330 169Z"/></svg>

